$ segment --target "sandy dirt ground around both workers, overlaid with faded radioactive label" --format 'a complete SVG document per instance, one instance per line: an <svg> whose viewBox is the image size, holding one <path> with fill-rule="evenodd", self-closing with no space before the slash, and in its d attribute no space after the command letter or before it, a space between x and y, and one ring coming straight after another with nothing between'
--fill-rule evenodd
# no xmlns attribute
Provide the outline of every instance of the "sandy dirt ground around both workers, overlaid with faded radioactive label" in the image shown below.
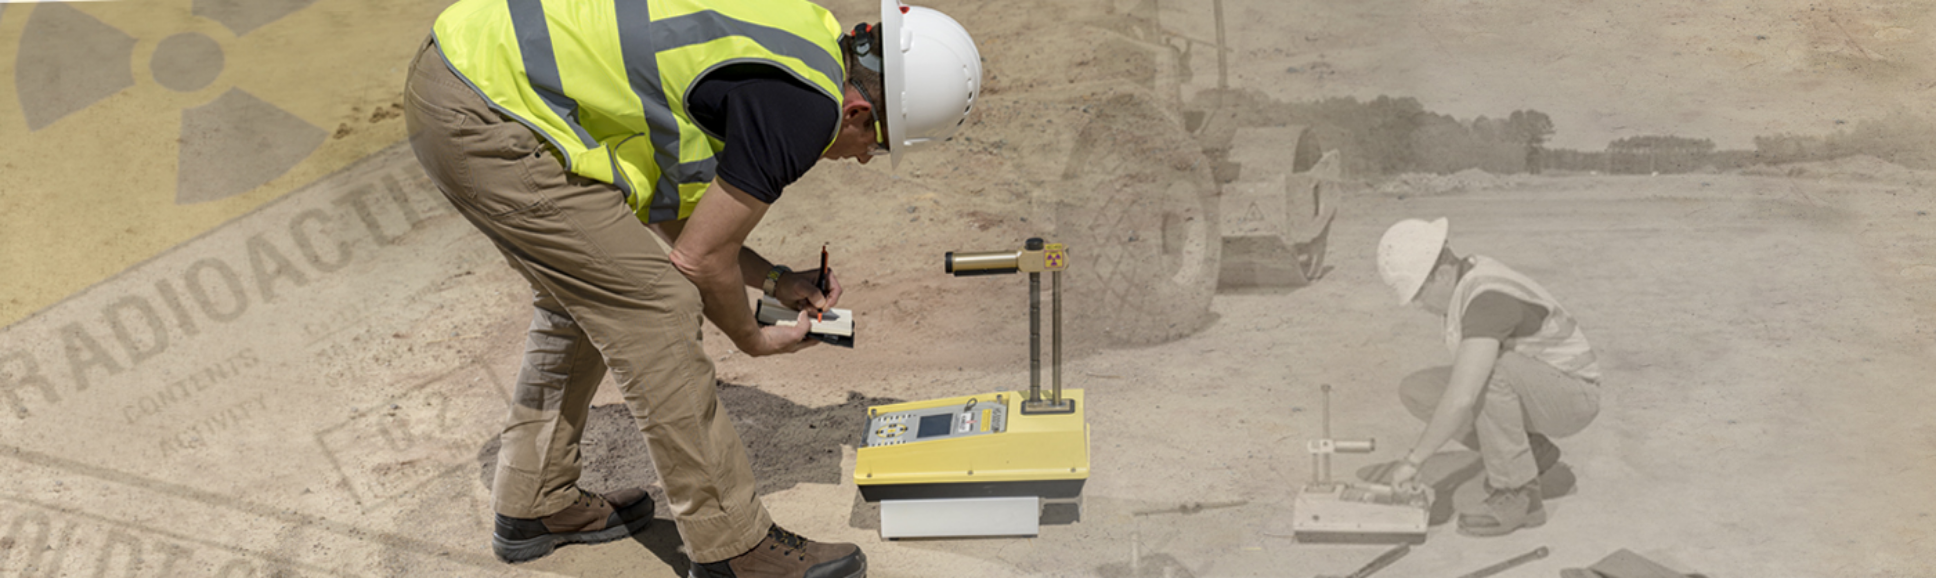
<svg viewBox="0 0 1936 578"><path fill-rule="evenodd" d="M1415 95L1462 118L1533 106L1574 147L1651 131L1746 147L1922 110L1936 81L1928 10L1909 2L1225 4L1231 85L1282 101ZM867 2L829 6L869 17ZM1173 149L1191 143L1171 141L1175 118L1102 143L1084 128L1125 77L1167 110L1216 73L1200 44L1187 73L1096 46L1148 46L1123 25L1148 14L1171 35L1156 43L1210 41L1208 2L933 6L987 58L962 135L892 172L815 168L751 240L796 265L829 246L860 344L749 360L707 332L763 501L790 530L862 543L869 576L1316 576L1371 561L1382 547L1293 541L1289 516L1318 387L1336 389L1340 437L1378 441L1338 458L1349 474L1409 447L1421 423L1396 387L1448 363L1437 317L1394 307L1373 265L1406 217L1448 217L1460 251L1541 280L1607 379L1593 425L1558 441L1578 481L1547 503L1549 524L1491 539L1438 524L1378 576L1458 576L1535 547L1551 555L1498 576L1557 576L1618 549L1717 578L1936 576L1936 174L1843 159L1357 176L1326 193L1338 218L1315 284L1224 292L1200 311L1104 307L1195 282L1185 269L1208 246L1193 234L1214 230L1200 224L1216 197L1185 191L1196 226L1138 224L1175 189L1131 184L1169 197L1109 205L1074 188L1094 182L1071 159L1183 159ZM527 564L490 555L484 472L529 294L387 114L439 8L0 4L14 50L0 104L19 110L0 114L0 576L683 574L666 520ZM213 64L192 35L213 41ZM207 149L277 135L314 145ZM205 151L254 164L207 186L192 170ZM1121 170L1208 184L1187 162ZM1028 385L1026 280L953 278L941 261L1030 236L1071 242L1071 275L1113 267L1094 278L1133 290L1086 280L1065 296L1082 313L1065 385L1090 402L1080 516L1036 537L885 541L852 483L862 412ZM1136 255L1169 261L1138 273L1123 261ZM1195 331L1150 342L1175 325L1152 319L1171 317ZM652 487L618 402L610 387L596 400L583 483ZM1448 447L1433 470L1471 460Z"/></svg>

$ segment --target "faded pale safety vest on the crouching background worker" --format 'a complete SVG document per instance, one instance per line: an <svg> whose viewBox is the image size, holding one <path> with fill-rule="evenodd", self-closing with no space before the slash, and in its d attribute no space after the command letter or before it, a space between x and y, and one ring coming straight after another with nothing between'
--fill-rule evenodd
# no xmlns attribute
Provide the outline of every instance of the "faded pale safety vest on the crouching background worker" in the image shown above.
<svg viewBox="0 0 1936 578"><path fill-rule="evenodd" d="M1560 302L1547 288L1489 257L1473 257L1471 271L1466 271L1466 276L1452 288L1452 303L1446 307L1446 346L1452 348L1452 354L1458 354L1458 344L1466 340L1462 334L1466 305L1471 305L1471 298L1481 292L1502 292L1514 300L1547 307L1547 321L1539 325L1539 332L1512 338L1500 344L1502 348L1547 361L1566 375L1599 383L1599 360L1593 346L1586 342L1586 332L1566 313L1566 307L1560 307Z"/></svg>

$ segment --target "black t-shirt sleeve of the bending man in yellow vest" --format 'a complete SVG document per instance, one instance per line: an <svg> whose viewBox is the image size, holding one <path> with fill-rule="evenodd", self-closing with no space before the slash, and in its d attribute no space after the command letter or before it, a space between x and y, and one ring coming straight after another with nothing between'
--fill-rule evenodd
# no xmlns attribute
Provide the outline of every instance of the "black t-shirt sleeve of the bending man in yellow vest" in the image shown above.
<svg viewBox="0 0 1936 578"><path fill-rule="evenodd" d="M840 102L767 64L707 73L685 106L726 141L718 178L769 205L813 168L840 122Z"/></svg>

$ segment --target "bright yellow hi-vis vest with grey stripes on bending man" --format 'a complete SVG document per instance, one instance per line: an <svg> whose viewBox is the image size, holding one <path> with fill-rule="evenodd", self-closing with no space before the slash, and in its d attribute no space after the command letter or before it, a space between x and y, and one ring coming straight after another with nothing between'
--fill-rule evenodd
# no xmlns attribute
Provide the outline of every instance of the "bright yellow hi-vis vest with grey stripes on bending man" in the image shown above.
<svg viewBox="0 0 1936 578"><path fill-rule="evenodd" d="M803 0L459 0L434 35L484 101L645 222L685 218L712 182L724 143L685 108L701 77L769 64L834 106L846 81L840 23Z"/></svg>

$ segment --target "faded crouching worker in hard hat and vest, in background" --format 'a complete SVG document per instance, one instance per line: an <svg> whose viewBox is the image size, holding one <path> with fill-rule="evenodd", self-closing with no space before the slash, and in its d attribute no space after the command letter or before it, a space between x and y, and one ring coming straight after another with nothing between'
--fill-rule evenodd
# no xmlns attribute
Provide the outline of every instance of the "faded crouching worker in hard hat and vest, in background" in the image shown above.
<svg viewBox="0 0 1936 578"><path fill-rule="evenodd" d="M1400 396L1425 433L1400 462L1373 481L1413 483L1419 466L1446 441L1479 450L1485 476L1458 495L1458 530L1504 535L1547 522L1539 476L1558 462L1549 437L1568 437L1599 414L1599 363L1566 307L1506 265L1460 257L1446 244L1446 220L1407 218L1378 240L1378 275L1398 303L1444 317L1452 367L1419 371Z"/></svg>

